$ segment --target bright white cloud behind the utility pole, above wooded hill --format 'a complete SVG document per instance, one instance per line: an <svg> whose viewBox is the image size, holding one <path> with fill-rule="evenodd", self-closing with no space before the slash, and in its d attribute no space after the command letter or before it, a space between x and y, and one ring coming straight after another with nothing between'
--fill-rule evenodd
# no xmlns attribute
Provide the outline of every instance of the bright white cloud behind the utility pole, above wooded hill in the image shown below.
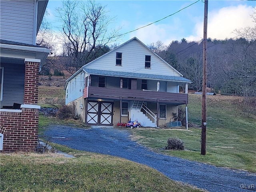
<svg viewBox="0 0 256 192"><path fill-rule="evenodd" d="M254 8L246 5L229 6L208 13L208 38L233 38L235 29L254 26L250 14ZM187 40L200 40L203 38L203 22L197 22L194 34L186 37Z"/></svg>

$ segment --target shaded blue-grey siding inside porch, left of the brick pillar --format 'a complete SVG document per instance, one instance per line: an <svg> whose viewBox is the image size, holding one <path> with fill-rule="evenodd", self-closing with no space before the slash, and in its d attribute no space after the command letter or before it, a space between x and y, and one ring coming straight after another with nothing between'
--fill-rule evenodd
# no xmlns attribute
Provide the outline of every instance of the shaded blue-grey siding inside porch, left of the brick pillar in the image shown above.
<svg viewBox="0 0 256 192"><path fill-rule="evenodd" d="M2 106L13 106L13 103L24 103L24 64L5 64L1 63L4 68L4 86Z"/></svg>

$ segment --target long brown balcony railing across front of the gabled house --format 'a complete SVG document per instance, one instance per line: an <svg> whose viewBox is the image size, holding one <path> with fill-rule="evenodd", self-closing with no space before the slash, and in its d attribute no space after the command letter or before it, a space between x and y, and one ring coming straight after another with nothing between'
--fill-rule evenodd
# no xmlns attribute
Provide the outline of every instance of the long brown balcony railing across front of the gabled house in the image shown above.
<svg viewBox="0 0 256 192"><path fill-rule="evenodd" d="M142 100L150 102L166 102L187 104L188 94L157 92L149 90L111 89L89 86L84 89L84 98L105 98L113 100Z"/></svg>

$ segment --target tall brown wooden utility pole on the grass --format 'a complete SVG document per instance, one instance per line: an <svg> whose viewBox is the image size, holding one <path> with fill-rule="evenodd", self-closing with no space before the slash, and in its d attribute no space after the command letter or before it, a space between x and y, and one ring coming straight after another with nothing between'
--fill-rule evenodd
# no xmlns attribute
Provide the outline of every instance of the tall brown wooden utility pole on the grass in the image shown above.
<svg viewBox="0 0 256 192"><path fill-rule="evenodd" d="M205 155L206 154L207 17L208 17L208 0L205 0L204 1L204 40L203 40L203 90L202 90L201 155Z"/></svg>

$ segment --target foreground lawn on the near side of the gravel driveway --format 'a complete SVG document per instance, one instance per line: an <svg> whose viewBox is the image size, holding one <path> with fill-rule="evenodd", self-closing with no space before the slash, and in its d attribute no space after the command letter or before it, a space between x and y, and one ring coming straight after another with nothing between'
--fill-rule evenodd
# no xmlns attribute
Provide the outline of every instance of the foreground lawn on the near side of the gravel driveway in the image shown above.
<svg viewBox="0 0 256 192"><path fill-rule="evenodd" d="M64 147L62 146L62 150ZM1 154L1 192L199 192L134 162L89 152Z"/></svg>

